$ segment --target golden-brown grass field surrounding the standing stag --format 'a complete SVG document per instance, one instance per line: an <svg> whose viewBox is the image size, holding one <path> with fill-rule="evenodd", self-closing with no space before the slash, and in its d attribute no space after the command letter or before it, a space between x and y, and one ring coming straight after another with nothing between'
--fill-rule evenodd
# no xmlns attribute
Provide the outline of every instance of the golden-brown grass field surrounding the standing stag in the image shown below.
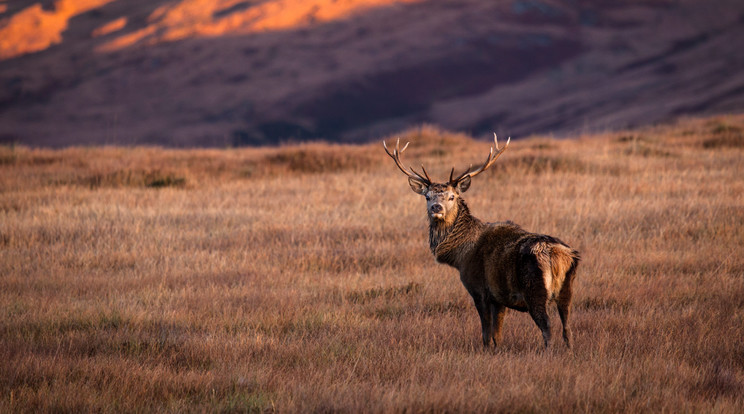
<svg viewBox="0 0 744 414"><path fill-rule="evenodd" d="M0 412L744 411L744 116L512 141L465 199L581 251L572 351L482 348L379 143L2 147Z"/></svg>

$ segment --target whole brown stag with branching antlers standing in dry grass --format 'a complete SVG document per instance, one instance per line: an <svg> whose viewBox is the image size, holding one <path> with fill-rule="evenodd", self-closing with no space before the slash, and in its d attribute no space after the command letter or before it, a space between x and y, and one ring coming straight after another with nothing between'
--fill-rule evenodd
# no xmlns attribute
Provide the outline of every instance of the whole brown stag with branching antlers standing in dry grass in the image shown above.
<svg viewBox="0 0 744 414"><path fill-rule="evenodd" d="M528 312L540 329L545 349L551 339L548 305L555 303L563 325L563 340L570 349L572 332L571 286L579 264L579 252L561 240L545 234L530 233L511 221L486 223L470 213L462 194L470 188L473 177L491 167L506 151L494 146L478 168L472 164L449 181L432 181L423 164L422 173L406 168L400 160L408 144L400 148L398 138L392 153L387 143L385 152L406 176L413 192L426 198L429 219L429 248L437 262L454 267L478 311L483 346L498 347L507 309Z"/></svg>

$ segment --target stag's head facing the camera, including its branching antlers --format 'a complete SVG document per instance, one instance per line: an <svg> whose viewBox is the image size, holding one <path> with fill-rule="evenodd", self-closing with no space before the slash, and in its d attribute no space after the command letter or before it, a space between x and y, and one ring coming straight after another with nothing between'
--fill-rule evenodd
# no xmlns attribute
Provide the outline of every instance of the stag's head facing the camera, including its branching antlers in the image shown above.
<svg viewBox="0 0 744 414"><path fill-rule="evenodd" d="M393 149L392 153L390 153L385 141L382 142L382 145L385 147L385 152L387 152L390 158L395 161L395 165L403 171L403 174L408 176L408 184L411 186L413 192L426 197L426 210L429 218L434 221L451 222L454 219L453 216L457 214L457 205L460 195L470 188L470 180L493 165L494 161L496 161L496 159L501 156L509 146L511 138L506 141L506 145L501 149L499 149L496 134L493 134L493 140L496 147L496 153L494 153L494 147L491 147L491 152L488 154L488 158L483 165L473 170L471 164L465 172L456 178L454 177L455 167L452 167L449 181L446 183L432 182L431 178L429 178L429 174L426 173L423 164L421 165L423 175L414 171L413 168L404 167L400 161L400 154L408 148L408 143L406 143L406 145L401 149L400 138L396 141L395 149Z"/></svg>

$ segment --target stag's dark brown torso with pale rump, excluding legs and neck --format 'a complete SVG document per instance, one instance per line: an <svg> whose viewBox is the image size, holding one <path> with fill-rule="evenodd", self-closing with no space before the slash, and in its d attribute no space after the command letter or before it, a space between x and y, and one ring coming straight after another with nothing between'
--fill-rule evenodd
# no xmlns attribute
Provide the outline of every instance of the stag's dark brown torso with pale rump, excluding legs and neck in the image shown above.
<svg viewBox="0 0 744 414"><path fill-rule="evenodd" d="M570 300L579 253L561 240L529 233L516 224L492 223L461 272L468 292L490 296L527 312L553 300Z"/></svg>

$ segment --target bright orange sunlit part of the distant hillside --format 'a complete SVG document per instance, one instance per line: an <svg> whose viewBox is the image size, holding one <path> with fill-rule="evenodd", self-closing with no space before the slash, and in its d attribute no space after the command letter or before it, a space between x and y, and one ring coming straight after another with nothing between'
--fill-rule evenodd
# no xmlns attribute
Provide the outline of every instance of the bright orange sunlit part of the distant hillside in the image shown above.
<svg viewBox="0 0 744 414"><path fill-rule="evenodd" d="M38 52L62 41L68 21L116 0L58 0L51 10L41 3L12 15L0 30L0 59ZM148 24L101 45L110 51L138 42L155 44L201 36L245 34L265 30L289 29L314 22L326 22L351 13L391 3L420 0L182 0L156 8ZM7 6L6 6L7 7ZM108 35L124 29L127 18L112 20L91 32Z"/></svg>

